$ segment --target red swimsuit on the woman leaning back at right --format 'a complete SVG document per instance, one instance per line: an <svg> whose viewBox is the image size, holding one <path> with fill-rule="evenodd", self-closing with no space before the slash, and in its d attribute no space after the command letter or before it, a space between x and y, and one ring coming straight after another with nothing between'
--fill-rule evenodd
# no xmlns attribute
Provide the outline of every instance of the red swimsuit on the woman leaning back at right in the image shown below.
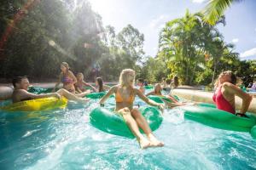
<svg viewBox="0 0 256 170"><path fill-rule="evenodd" d="M230 102L227 101L226 99L224 99L224 96L223 96L223 94L221 93L221 88L222 88L222 87L220 87L220 88L218 89L217 94L214 93L213 96L212 96L212 99L213 99L213 101L216 103L217 108L218 108L219 110L228 111L228 112L230 112L230 113L232 113L232 114L236 114L236 111L235 111L235 109L233 108L233 106L230 105Z"/></svg>

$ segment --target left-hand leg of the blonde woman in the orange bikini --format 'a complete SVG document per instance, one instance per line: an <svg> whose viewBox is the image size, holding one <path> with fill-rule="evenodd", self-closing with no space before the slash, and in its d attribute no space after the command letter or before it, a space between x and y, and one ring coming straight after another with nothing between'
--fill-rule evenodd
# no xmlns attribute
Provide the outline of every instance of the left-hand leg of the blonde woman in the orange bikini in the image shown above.
<svg viewBox="0 0 256 170"><path fill-rule="evenodd" d="M137 122L131 116L130 110L125 107L124 109L121 109L118 112L124 117L127 126L131 129L131 133L133 133L137 138L137 141L140 144L141 148L148 148L150 146L150 142L140 132L139 127L137 126Z"/></svg>

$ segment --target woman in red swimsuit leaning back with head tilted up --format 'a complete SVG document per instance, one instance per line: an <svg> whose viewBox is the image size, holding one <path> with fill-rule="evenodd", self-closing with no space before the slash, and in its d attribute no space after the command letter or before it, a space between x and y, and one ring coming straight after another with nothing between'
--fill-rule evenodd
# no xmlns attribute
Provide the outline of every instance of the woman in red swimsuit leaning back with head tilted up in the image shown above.
<svg viewBox="0 0 256 170"><path fill-rule="evenodd" d="M253 97L236 86L236 75L232 71L220 73L215 89L212 99L219 110L236 114L235 96L238 96L242 99L242 105L240 113L236 115L245 116Z"/></svg>

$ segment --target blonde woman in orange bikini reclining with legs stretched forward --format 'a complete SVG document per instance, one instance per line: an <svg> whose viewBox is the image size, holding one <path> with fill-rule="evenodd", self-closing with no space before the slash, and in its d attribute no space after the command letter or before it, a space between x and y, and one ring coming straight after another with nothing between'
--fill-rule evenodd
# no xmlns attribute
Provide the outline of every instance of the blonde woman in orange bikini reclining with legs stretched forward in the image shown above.
<svg viewBox="0 0 256 170"><path fill-rule="evenodd" d="M137 109L133 108L133 102L136 95L143 99L148 105L160 107L163 110L163 105L155 103L148 99L139 89L134 87L135 71L125 69L121 72L119 77L119 84L109 89L108 94L102 97L100 104L102 105L111 94L115 94L117 111L123 116L127 126L131 129L131 133L135 135L138 143L142 149L148 147L160 147L164 144L154 137L148 122ZM139 127L143 129L147 138L140 132Z"/></svg>

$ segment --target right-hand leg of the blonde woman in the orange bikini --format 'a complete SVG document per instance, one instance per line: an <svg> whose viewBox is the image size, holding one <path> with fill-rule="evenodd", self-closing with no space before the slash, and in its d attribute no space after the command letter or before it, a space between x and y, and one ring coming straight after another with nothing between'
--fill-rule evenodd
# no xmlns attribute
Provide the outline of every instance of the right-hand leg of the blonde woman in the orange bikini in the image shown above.
<svg viewBox="0 0 256 170"><path fill-rule="evenodd" d="M131 110L131 116L137 122L137 125L143 129L143 132L147 135L151 146L163 146L164 143L160 142L158 139L154 137L150 127L148 126L148 122L145 117L138 111L137 109Z"/></svg>

